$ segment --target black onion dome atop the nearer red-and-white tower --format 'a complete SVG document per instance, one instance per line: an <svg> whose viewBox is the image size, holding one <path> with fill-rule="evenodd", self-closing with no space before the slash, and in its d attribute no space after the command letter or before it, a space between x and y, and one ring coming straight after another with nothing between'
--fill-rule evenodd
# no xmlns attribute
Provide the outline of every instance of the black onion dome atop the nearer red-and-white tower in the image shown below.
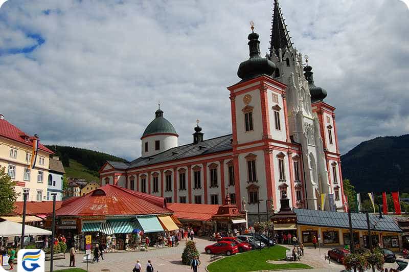
<svg viewBox="0 0 409 272"><path fill-rule="evenodd" d="M254 27L252 25L252 31ZM276 70L276 64L268 60L267 58L262 58L260 55L260 41L259 34L254 31L248 35L248 47L250 51L250 58L246 61L240 63L239 70L237 71L237 76L242 79L242 81L255 78L261 75L271 76Z"/></svg>

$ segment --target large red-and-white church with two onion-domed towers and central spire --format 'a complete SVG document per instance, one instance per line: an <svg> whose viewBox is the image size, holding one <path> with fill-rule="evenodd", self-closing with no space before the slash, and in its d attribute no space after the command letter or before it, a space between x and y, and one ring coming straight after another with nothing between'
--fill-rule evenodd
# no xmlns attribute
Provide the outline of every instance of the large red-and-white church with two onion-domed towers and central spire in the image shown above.
<svg viewBox="0 0 409 272"><path fill-rule="evenodd" d="M192 143L179 146L158 109L142 135L142 156L106 162L101 186L179 203L222 204L228 194L249 222L258 209L263 219L266 209L278 211L285 197L293 208L346 210L335 108L323 101L326 90L315 86L312 67L292 47L277 1L265 58L253 29L250 58L237 72L241 81L228 87L232 133L205 140L197 125Z"/></svg>

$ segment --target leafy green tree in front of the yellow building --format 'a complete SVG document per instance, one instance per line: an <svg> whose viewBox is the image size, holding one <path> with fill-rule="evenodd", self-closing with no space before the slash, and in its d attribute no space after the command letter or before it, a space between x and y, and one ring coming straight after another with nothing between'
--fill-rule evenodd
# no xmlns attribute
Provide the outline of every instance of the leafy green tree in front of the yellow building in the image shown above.
<svg viewBox="0 0 409 272"><path fill-rule="evenodd" d="M14 190L15 182L6 173L6 168L0 168L0 215L6 215L13 210L17 193Z"/></svg>

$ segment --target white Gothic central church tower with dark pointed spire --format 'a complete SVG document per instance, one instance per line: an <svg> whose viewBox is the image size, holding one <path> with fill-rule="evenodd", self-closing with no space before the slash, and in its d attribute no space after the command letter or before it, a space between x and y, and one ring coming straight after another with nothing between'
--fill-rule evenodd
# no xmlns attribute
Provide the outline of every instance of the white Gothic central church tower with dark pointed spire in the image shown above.
<svg viewBox="0 0 409 272"><path fill-rule="evenodd" d="M310 86L303 74L302 54L293 48L290 39L278 0L275 0L268 58L277 66L274 79L287 85L289 134L291 140L302 147L305 205L308 209L321 208L321 196L324 195L323 208L329 210L331 190L320 120L312 109Z"/></svg>

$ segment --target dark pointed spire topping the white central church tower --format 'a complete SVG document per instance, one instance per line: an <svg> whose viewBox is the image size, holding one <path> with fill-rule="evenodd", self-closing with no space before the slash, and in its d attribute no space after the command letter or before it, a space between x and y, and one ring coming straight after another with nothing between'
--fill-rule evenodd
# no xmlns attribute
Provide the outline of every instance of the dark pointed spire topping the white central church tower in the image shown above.
<svg viewBox="0 0 409 272"><path fill-rule="evenodd" d="M280 6L278 5L278 0L274 0L274 11L272 15L272 26L271 26L271 41L270 41L270 59L272 54L278 57L278 50L281 48L284 53L286 49L292 49L292 43L290 36L287 31L287 26L284 23L285 19L281 13Z"/></svg>

